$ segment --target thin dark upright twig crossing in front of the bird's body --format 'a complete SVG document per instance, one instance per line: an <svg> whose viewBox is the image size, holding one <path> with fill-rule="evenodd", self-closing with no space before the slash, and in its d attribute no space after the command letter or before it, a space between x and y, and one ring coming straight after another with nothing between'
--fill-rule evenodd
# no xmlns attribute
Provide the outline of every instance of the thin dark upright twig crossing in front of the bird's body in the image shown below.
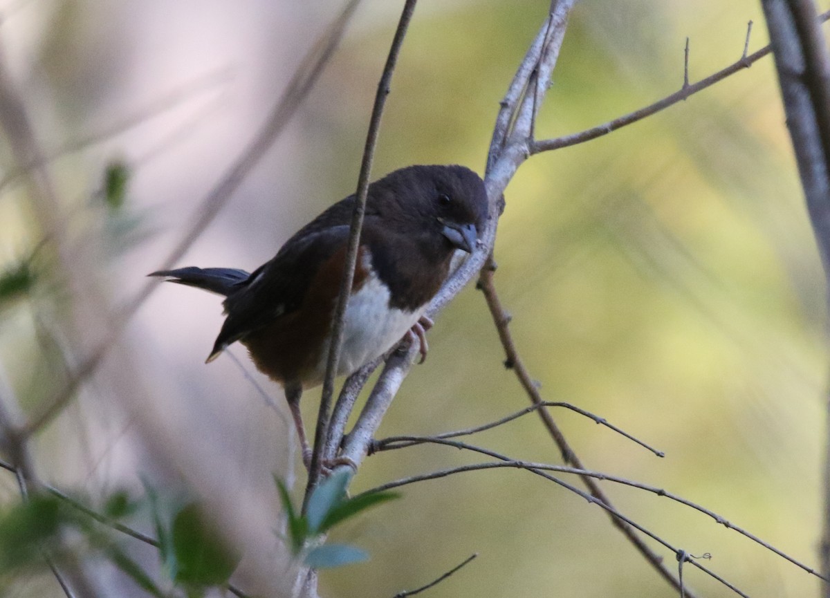
<svg viewBox="0 0 830 598"><path fill-rule="evenodd" d="M389 46L389 54L386 64L383 66L383 75L378 82L378 90L374 96L372 116L369 119L369 132L366 134L363 159L360 162L360 174L358 177L358 188L354 197L354 211L349 227L349 246L346 250L343 279L340 281L340 290L337 297L337 307L334 309L334 321L331 326L330 346L328 361L325 367L325 378L323 381L323 394L320 398L320 411L317 416L315 429L314 452L311 455L309 468L309 479L305 489L305 500L310 496L311 489L314 489L320 479L320 464L322 462L323 450L325 449L326 434L329 429L331 397L334 394L334 377L337 373L337 362L340 357L340 347L343 344L344 316L346 304L349 302L349 295L354 280L354 268L357 265L358 249L360 243L360 230L363 227L364 211L366 210L366 196L369 192L369 177L372 173L374 161L374 148L378 143L380 132L380 120L383 116L383 106L386 105L386 98L389 95L389 86L392 82L392 75L395 65L398 62L398 54L403 46L403 38L407 34L409 22L412 19L417 0L407 0L403 5L398 27L395 29L392 45ZM305 504L304 504L305 508ZM305 509L304 509L305 510Z"/></svg>

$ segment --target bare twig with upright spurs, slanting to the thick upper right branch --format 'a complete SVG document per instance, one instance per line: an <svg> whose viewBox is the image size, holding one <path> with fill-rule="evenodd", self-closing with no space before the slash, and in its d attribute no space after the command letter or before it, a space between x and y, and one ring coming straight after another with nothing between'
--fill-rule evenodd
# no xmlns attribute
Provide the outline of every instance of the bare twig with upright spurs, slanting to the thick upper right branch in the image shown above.
<svg viewBox="0 0 830 598"><path fill-rule="evenodd" d="M821 15L818 16L818 20L820 22L826 22L828 21L828 19L830 19L830 11L823 12ZM705 90L707 87L715 85L715 83L724 80L726 77L730 75L735 75L735 73L739 70L749 68L749 66L752 66L755 62L759 61L764 56L767 56L771 51L772 50L769 46L764 46L759 51L755 51L749 56L741 56L739 60L733 62L730 66L718 70L712 75L706 77L706 79L701 79L697 83L692 83L688 85L688 87L676 91L671 95L667 95L662 100L657 100L657 102L654 102L651 105L647 105L641 109L634 110L629 114L624 114L623 116L620 116L617 119L609 120L607 123L598 124L596 127L593 127L591 129L586 129L584 131L580 131L579 133L564 135L563 137L557 137L556 139L543 139L541 141L534 141L530 144L530 153L541 153L548 152L552 149L568 148L571 145L585 143L586 141L590 141L591 139L597 139L598 137L602 137L603 135L612 133L617 129L622 129L624 126L628 124L636 123L638 120L645 119L647 116L651 116L652 114L660 112L661 110L664 110L669 106L675 105L678 102L686 100L691 95L695 95L698 91Z"/></svg>

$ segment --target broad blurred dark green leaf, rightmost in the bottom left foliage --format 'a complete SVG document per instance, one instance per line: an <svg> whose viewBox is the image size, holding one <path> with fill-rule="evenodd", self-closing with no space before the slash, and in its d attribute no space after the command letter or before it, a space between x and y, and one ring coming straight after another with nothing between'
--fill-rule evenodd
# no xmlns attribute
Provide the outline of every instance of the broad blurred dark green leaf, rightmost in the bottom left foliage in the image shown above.
<svg viewBox="0 0 830 598"><path fill-rule="evenodd" d="M171 532L178 564L173 581L218 586L236 570L240 557L227 547L198 503L189 503L176 513Z"/></svg>

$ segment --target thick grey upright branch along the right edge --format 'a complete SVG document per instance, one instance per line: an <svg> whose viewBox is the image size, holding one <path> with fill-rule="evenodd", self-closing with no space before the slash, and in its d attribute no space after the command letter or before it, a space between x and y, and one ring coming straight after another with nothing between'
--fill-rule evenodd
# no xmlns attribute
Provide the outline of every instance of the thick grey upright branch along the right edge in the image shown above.
<svg viewBox="0 0 830 598"><path fill-rule="evenodd" d="M812 0L762 0L787 127L810 221L830 279L830 61ZM828 293L827 286L825 294ZM827 300L827 296L825 297ZM828 421L830 421L830 396ZM824 521L819 559L830 576L830 436L825 440ZM830 598L830 586L822 587Z"/></svg>

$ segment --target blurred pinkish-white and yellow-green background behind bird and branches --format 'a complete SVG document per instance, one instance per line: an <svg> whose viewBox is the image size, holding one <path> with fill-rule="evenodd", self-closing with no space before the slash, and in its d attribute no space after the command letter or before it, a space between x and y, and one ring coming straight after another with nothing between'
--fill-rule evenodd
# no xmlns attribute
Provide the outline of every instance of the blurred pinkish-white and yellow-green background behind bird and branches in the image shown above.
<svg viewBox="0 0 830 598"><path fill-rule="evenodd" d="M182 265L252 270L353 192L398 4L364 0L320 85ZM481 172L498 101L547 5L419 2L374 177L410 163ZM0 146L0 265L10 271L25 263L35 276L0 304L4 388L22 412L37 412L105 335L105 314L183 235L337 10L264 0L0 6L0 56L43 148L82 147L50 163L60 203L44 214L32 186L12 177L16 156ZM538 136L586 129L678 89L686 36L692 81L730 64L749 20L754 51L767 41L755 0L583 0ZM171 94L175 101L162 101ZM100 195L115 160L130 173L119 208ZM530 158L505 197L496 285L544 398L593 411L666 452L658 459L581 416L554 411L584 463L680 494L815 565L825 289L771 59L616 133ZM49 241L40 245L51 219L70 260ZM216 297L158 289L33 450L41 477L93 496L119 485L140 493L144 476L209 497L230 535L249 548L239 582L248 588L261 583L256 571L279 576L268 560L277 543L271 472L286 474L291 460L285 421L237 365L227 357L203 365L220 323ZM527 405L501 365L474 289L437 320L430 346L382 435L463 428ZM307 421L317 396L305 396ZM532 416L476 443L559 462ZM355 489L478 460L437 447L377 455ZM6 477L2 497L15 501ZM690 508L604 486L623 513L666 541L709 552L704 564L750 596L818 591L807 573ZM248 535L256 532L256 540ZM368 549L372 560L325 572L322 596L393 596L472 552L476 561L429 596L671 595L599 508L520 471L409 486L403 499L337 536ZM674 556L654 546L673 568ZM152 552L141 558L152 566ZM246 586L246 575L259 581ZM685 579L699 596L731 595L691 566ZM100 584L110 596L141 596L117 576ZM13 596L60 595L48 576L13 586Z"/></svg>

